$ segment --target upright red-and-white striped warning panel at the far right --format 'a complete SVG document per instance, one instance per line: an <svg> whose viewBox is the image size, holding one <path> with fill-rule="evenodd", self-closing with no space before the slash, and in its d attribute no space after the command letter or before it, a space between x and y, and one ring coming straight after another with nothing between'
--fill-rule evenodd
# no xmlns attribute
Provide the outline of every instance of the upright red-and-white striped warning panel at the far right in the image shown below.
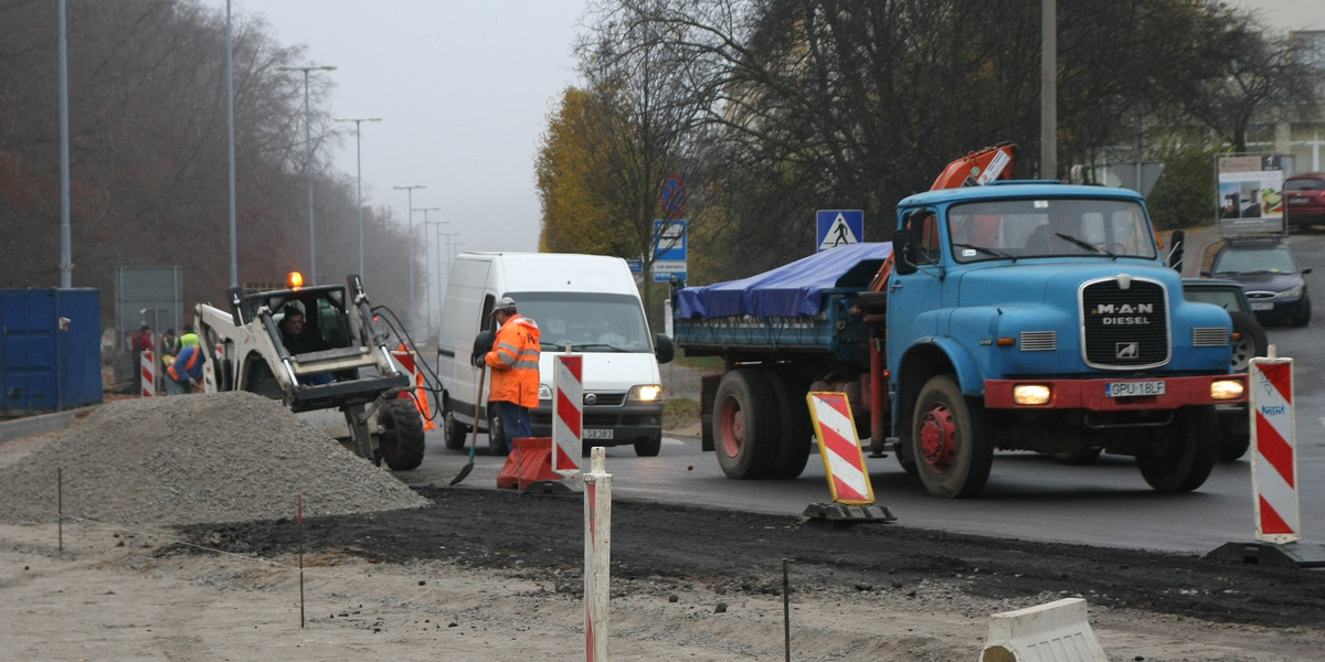
<svg viewBox="0 0 1325 662"><path fill-rule="evenodd" d="M1297 429L1293 424L1293 360L1256 357L1251 367L1251 485L1256 540L1301 539L1297 512Z"/></svg>

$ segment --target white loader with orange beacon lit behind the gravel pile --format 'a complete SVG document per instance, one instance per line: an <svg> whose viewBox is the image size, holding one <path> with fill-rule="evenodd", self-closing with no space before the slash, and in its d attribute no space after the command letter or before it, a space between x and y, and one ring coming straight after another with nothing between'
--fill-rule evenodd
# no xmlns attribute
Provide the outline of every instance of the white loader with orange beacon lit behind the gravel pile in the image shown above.
<svg viewBox="0 0 1325 662"><path fill-rule="evenodd" d="M204 379L207 392L248 391L281 400L292 412L341 440L359 457L394 470L423 462L423 417L399 395L411 379L391 357L387 334L374 327L372 308L358 275L346 285L301 286L290 274L289 289L228 293L229 311L196 306L197 334L212 359ZM325 350L290 354L281 320L303 314L307 332ZM341 428L327 416L339 409Z"/></svg>

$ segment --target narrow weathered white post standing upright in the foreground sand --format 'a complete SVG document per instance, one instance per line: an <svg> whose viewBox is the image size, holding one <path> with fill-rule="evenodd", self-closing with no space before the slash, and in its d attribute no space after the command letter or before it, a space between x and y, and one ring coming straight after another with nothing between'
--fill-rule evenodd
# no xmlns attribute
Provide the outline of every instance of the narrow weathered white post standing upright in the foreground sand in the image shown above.
<svg viewBox="0 0 1325 662"><path fill-rule="evenodd" d="M607 604L612 571L612 474L595 448L584 475L584 659L608 662Z"/></svg>

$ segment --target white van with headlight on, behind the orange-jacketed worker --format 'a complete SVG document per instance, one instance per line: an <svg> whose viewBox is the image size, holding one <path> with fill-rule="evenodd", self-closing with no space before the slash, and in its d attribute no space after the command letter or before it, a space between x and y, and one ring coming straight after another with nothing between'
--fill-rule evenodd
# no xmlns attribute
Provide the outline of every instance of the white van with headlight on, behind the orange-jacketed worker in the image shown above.
<svg viewBox="0 0 1325 662"><path fill-rule="evenodd" d="M633 444L636 454L657 455L662 444L659 363L672 360L672 339L649 334L639 287L624 260L570 253L456 256L437 339L447 448L464 448L477 418L480 432L496 430L489 434L492 451L510 449L494 421L496 409L488 406L486 387L474 416L480 401L474 339L496 324L489 314L502 297L515 299L519 314L537 322L541 332L538 408L529 412L534 436L551 436L553 356L564 354L570 343L584 357L584 448Z"/></svg>

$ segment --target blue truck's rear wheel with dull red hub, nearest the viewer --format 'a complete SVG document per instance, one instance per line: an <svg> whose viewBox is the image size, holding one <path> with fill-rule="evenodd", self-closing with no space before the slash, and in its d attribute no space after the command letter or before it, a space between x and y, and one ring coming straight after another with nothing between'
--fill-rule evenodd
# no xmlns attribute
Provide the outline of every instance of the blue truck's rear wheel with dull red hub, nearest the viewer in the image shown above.
<svg viewBox="0 0 1325 662"><path fill-rule="evenodd" d="M722 376L713 399L717 414L714 450L729 478L766 478L779 449L772 387L758 369L738 368Z"/></svg>

